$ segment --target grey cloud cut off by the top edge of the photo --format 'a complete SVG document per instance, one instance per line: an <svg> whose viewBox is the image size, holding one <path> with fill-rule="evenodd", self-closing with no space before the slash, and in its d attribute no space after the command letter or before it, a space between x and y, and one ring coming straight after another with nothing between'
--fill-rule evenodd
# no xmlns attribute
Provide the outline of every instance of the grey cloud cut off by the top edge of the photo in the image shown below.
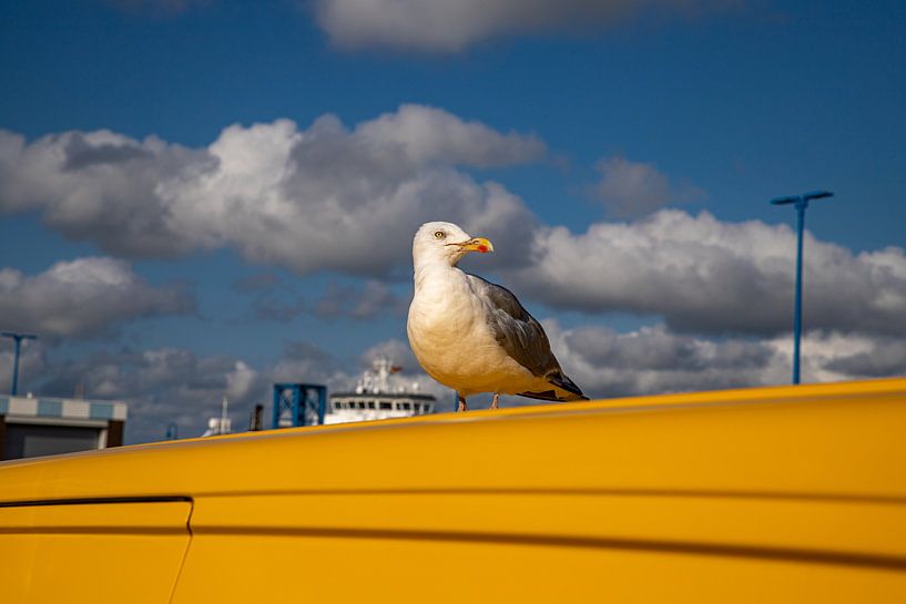
<svg viewBox="0 0 906 604"><path fill-rule="evenodd" d="M600 28L645 11L691 14L739 0L316 0L334 44L457 52L507 34Z"/></svg>

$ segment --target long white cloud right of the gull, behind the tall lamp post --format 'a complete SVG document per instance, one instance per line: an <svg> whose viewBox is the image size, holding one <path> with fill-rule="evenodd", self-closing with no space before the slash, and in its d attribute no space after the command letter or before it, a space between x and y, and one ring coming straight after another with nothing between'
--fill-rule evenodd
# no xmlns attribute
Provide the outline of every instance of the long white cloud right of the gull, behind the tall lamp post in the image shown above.
<svg viewBox="0 0 906 604"><path fill-rule="evenodd" d="M791 329L795 234L759 221L661 211L583 234L539 231L535 264L506 275L517 294L559 309L663 317L690 332ZM903 249L851 250L805 239L806 329L906 334Z"/></svg>

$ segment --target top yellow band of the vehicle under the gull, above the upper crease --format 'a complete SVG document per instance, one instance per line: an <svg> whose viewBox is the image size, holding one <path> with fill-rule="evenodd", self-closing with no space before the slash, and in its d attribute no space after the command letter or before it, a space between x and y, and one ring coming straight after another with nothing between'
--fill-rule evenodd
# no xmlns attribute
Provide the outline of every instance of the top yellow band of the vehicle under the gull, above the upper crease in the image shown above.
<svg viewBox="0 0 906 604"><path fill-rule="evenodd" d="M247 432L0 463L0 502L573 491L906 502L906 379Z"/></svg>

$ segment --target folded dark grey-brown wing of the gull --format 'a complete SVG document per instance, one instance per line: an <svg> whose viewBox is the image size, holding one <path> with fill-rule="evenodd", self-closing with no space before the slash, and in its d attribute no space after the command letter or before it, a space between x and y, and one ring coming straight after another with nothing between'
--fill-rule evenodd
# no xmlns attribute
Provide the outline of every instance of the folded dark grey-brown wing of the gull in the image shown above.
<svg viewBox="0 0 906 604"><path fill-rule="evenodd" d="M559 372L560 365L550 351L541 324L529 315L512 291L475 275L469 275L469 281L476 294L488 303L488 325L507 354L535 376Z"/></svg>

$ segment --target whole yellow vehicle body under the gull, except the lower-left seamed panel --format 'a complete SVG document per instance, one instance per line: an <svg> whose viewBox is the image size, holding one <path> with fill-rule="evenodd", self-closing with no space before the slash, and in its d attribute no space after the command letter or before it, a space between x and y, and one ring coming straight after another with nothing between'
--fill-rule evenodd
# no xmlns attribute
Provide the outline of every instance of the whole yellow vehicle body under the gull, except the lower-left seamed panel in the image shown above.
<svg viewBox="0 0 906 604"><path fill-rule="evenodd" d="M0 502L191 498L175 603L902 603L904 468L894 379L0 463Z"/></svg>

